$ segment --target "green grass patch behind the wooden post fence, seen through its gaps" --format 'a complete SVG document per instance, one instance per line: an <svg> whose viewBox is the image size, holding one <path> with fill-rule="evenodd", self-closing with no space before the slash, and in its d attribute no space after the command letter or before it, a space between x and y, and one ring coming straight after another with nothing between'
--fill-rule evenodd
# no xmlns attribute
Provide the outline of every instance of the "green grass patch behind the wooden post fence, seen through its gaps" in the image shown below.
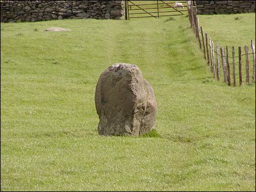
<svg viewBox="0 0 256 192"><path fill-rule="evenodd" d="M245 60L246 56L244 46L248 45L248 53L252 53L251 40L255 44L255 13L241 13L231 15L197 15L199 17L199 25L203 26L204 34L214 41L214 50L216 51L216 44L219 48L223 47L226 55L226 46L228 46L229 57L232 57L232 46L235 48L235 57L238 57L239 46L241 46L242 54L242 81L246 82L246 69ZM200 36L201 38L201 36ZM221 54L221 51L219 51ZM217 55L215 54L215 66L217 66ZM224 81L222 60L219 57L221 63L220 78ZM233 60L230 61L231 82L233 82ZM217 67L216 67L217 69ZM239 85L239 58L235 58L235 73L236 83ZM250 70L250 82L253 77L253 55L249 55L249 70Z"/></svg>

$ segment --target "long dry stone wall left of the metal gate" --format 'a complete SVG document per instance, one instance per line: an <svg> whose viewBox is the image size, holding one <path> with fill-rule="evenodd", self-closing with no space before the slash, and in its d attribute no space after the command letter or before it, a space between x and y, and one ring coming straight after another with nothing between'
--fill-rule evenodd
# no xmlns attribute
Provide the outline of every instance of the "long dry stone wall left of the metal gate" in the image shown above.
<svg viewBox="0 0 256 192"><path fill-rule="evenodd" d="M120 20L123 13L123 1L1 1L1 22L64 18Z"/></svg>

